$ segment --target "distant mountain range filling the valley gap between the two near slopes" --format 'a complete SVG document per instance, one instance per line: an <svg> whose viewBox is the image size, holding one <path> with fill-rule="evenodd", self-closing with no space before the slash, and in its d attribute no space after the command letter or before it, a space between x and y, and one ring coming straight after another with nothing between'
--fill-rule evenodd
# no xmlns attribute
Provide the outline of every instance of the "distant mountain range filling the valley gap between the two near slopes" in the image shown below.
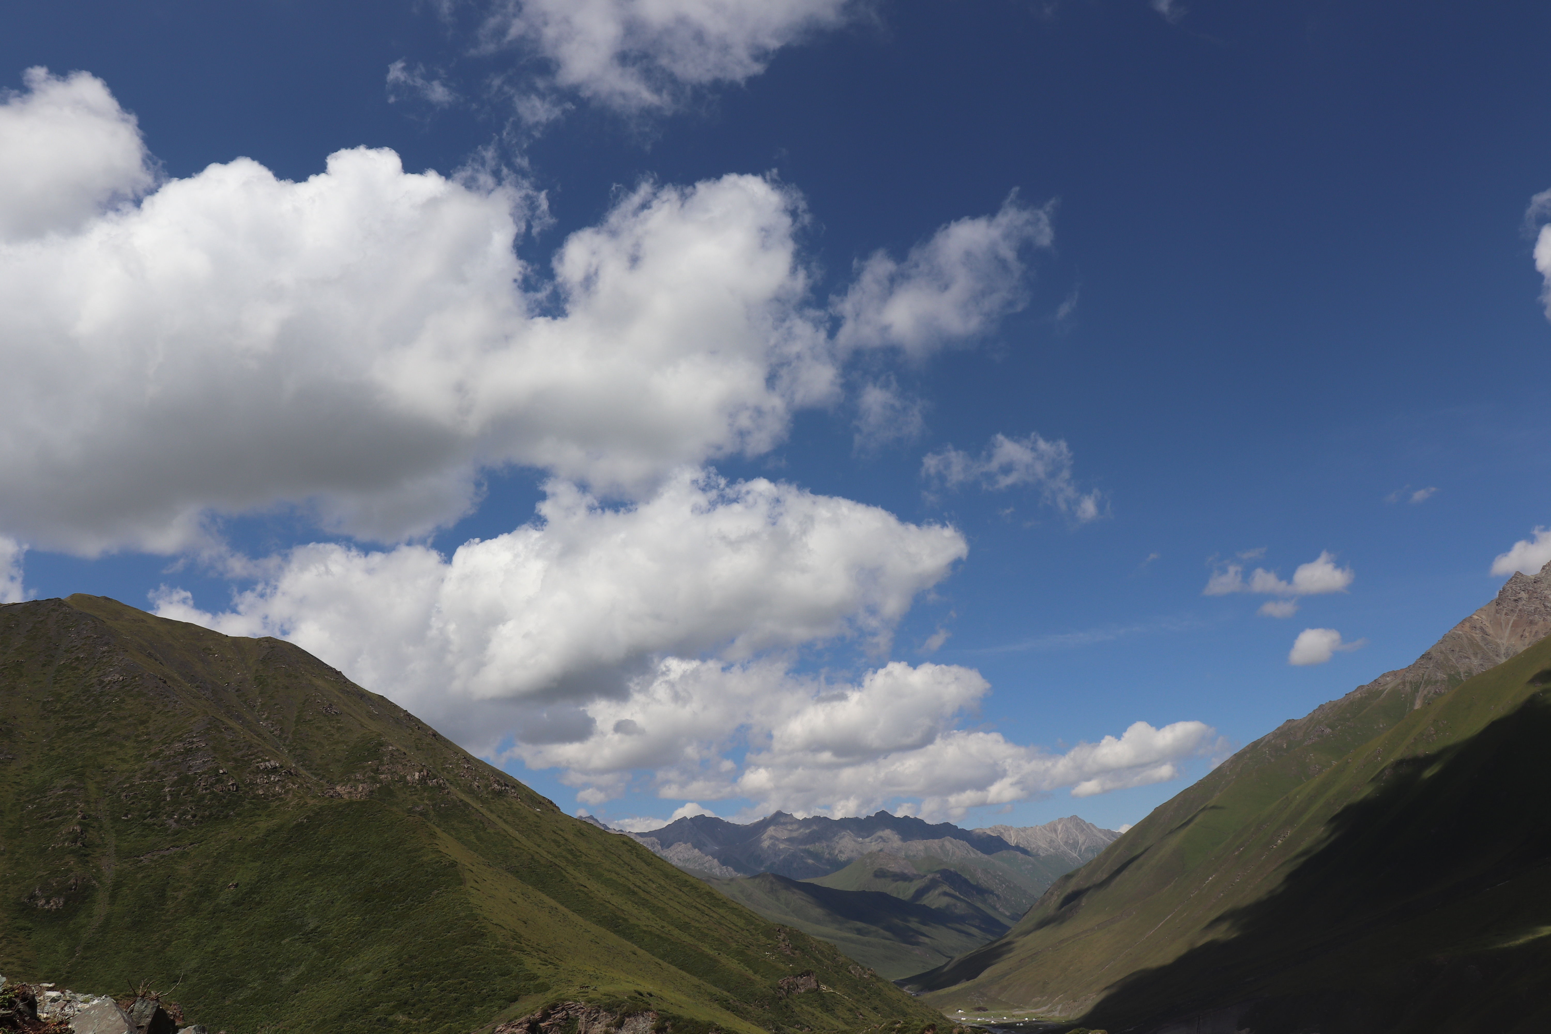
<svg viewBox="0 0 1551 1034"><path fill-rule="evenodd" d="M830 941L896 980L993 941L1117 832L1076 815L960 829L890 815L738 825L715 815L630 834L772 922Z"/></svg>

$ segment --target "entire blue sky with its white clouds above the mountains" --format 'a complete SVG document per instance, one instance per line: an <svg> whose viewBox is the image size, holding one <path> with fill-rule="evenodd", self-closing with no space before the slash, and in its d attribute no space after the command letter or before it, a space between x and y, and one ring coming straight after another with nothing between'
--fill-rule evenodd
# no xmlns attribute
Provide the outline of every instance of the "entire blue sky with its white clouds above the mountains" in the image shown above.
<svg viewBox="0 0 1551 1034"><path fill-rule="evenodd" d="M0 19L6 592L566 808L1118 826L1551 560L1543 5Z"/></svg>

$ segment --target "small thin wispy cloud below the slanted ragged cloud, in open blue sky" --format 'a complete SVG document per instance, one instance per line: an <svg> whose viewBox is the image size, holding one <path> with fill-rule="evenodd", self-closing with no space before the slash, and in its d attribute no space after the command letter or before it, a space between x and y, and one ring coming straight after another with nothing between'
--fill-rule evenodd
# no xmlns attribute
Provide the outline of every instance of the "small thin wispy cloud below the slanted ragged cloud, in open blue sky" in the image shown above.
<svg viewBox="0 0 1551 1034"><path fill-rule="evenodd" d="M948 445L927 453L921 460L921 476L948 488L979 484L990 491L1019 485L1039 488L1042 499L1067 515L1087 522L1103 516L1104 498L1083 491L1072 476L1072 446L1064 440L1047 440L1038 434L1010 439L997 434L980 456L971 456Z"/></svg>

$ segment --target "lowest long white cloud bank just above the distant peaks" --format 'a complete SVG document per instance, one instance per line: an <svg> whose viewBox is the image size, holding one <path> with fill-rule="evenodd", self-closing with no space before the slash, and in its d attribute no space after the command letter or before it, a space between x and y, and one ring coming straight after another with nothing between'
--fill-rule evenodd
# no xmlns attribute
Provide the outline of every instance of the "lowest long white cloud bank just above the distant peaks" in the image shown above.
<svg viewBox="0 0 1551 1034"><path fill-rule="evenodd" d="M563 767L565 781L594 801L645 770L662 797L748 798L758 814L892 808L957 819L1059 788L1086 797L1177 778L1179 763L1211 738L1200 722L1135 722L1118 738L1050 753L959 727L988 690L955 665L892 662L834 685L774 663L668 659L630 696L588 704L591 736L516 744L513 753Z"/></svg>

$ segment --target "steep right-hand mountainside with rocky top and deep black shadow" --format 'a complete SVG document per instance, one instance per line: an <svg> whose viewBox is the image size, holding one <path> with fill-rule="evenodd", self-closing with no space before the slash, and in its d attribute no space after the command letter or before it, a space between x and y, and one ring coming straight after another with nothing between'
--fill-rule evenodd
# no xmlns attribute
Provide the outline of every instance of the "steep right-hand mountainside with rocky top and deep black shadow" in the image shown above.
<svg viewBox="0 0 1551 1034"><path fill-rule="evenodd" d="M917 986L1111 1029L1529 1023L1551 1000L1548 632L1551 569L1514 575L1416 663L1250 744Z"/></svg>

